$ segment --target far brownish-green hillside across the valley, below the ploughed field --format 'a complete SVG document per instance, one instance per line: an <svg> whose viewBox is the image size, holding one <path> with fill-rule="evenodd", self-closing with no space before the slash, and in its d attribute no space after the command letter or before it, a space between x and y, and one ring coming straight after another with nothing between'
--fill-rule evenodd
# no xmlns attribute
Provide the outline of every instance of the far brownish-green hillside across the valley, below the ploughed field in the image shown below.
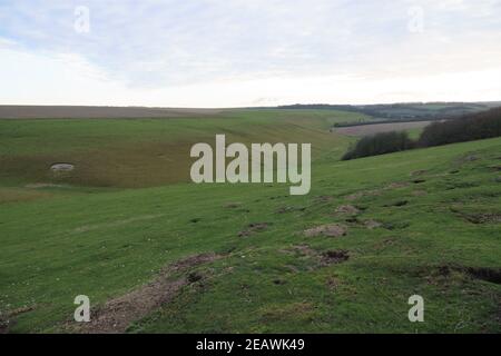
<svg viewBox="0 0 501 356"><path fill-rule="evenodd" d="M150 187L188 181L189 149L228 141L314 142L313 155L343 150L347 141L330 135L335 121L360 115L340 111L227 111L213 118L140 120L0 120L0 184L67 182L98 187ZM53 177L53 162L77 170Z"/></svg>

